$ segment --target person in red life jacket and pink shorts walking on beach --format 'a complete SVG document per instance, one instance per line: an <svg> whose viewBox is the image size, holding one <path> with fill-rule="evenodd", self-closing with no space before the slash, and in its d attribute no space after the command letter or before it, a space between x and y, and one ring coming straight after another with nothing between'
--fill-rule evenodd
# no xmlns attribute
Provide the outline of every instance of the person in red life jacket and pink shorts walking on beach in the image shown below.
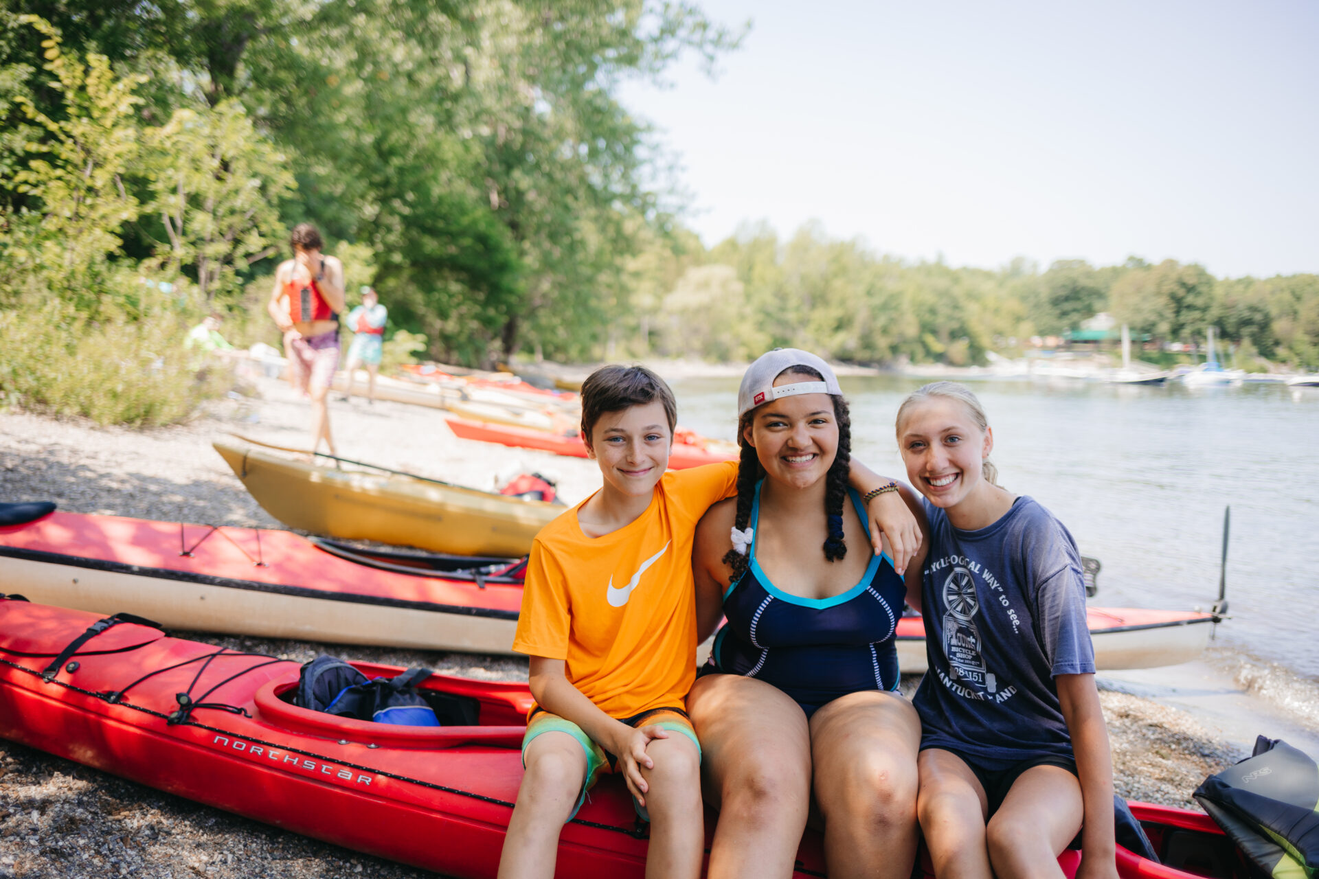
<svg viewBox="0 0 1319 879"><path fill-rule="evenodd" d="M339 365L343 262L321 253L321 233L310 223L293 227L289 241L293 258L276 269L266 311L284 333L293 386L311 398L311 449L324 440L334 455L326 393Z"/></svg>

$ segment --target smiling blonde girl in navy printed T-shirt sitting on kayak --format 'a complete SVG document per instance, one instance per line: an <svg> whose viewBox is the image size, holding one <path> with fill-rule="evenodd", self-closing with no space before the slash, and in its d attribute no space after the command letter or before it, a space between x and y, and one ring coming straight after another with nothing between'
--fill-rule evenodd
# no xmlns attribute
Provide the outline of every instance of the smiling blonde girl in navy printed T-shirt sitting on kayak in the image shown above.
<svg viewBox="0 0 1319 879"><path fill-rule="evenodd" d="M918 813L936 876L1116 879L1113 772L1080 555L1033 498L996 482L993 431L963 385L933 382L897 414L930 536L922 573L930 669Z"/></svg>

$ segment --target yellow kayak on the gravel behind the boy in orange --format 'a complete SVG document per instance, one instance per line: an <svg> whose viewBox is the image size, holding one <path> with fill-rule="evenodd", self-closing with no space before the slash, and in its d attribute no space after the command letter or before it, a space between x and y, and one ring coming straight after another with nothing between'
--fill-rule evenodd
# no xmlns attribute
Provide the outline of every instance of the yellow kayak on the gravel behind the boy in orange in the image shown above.
<svg viewBox="0 0 1319 879"><path fill-rule="evenodd" d="M452 555L520 556L565 507L406 473L323 467L245 438L216 440L256 502L290 528ZM295 449L282 449L295 451Z"/></svg>

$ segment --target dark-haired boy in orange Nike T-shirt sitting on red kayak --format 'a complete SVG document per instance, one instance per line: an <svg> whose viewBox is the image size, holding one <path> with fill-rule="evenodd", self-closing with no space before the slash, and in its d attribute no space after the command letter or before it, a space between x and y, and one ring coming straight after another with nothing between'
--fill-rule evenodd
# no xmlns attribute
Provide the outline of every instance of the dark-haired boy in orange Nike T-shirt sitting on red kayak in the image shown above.
<svg viewBox="0 0 1319 879"><path fill-rule="evenodd" d="M559 830L608 771L652 822L646 875L700 874L700 743L685 710L696 675L691 550L700 517L736 492L737 464L666 473L675 420L673 391L644 366L604 366L582 385L582 439L604 484L532 544L513 650L530 656L537 705L500 879L553 876ZM892 497L886 523L900 527L885 532L909 556L919 536Z"/></svg>

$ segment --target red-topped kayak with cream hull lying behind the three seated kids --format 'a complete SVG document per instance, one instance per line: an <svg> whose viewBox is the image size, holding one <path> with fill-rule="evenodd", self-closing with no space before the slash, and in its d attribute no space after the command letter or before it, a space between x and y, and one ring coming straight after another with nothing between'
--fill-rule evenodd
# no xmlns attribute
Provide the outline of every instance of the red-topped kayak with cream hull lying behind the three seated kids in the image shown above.
<svg viewBox="0 0 1319 879"><path fill-rule="evenodd" d="M508 654L522 575L517 559L364 551L290 531L78 513L0 527L7 590L265 638ZM1100 669L1194 659L1215 621L1137 608L1087 617ZM923 672L921 617L901 618L897 639L902 671Z"/></svg>

